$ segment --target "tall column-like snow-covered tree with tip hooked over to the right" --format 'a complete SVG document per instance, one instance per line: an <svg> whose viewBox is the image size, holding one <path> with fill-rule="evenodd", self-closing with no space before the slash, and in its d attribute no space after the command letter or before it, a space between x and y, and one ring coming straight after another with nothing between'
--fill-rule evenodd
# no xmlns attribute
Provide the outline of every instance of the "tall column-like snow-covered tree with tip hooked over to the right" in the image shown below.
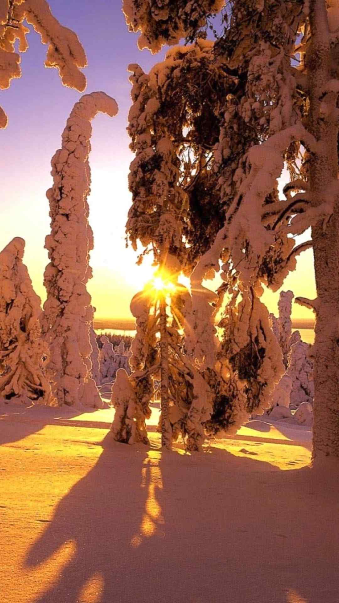
<svg viewBox="0 0 339 603"><path fill-rule="evenodd" d="M101 399L90 378L90 326L93 308L86 283L92 276L89 253L90 122L98 112L114 116L116 102L104 92L92 92L75 104L62 134L62 148L52 157L54 184L46 193L51 234L45 247L51 260L45 270L47 299L43 330L49 344L49 371L60 404L99 406Z"/></svg>

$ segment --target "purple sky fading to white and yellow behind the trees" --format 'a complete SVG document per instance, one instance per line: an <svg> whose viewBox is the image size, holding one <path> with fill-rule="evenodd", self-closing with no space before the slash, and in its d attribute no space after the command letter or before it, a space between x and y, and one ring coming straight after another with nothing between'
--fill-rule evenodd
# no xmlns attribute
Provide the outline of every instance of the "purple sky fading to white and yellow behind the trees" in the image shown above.
<svg viewBox="0 0 339 603"><path fill-rule="evenodd" d="M62 25L74 30L87 54L86 92L104 90L118 102L114 119L98 115L93 121L92 193L89 198L90 224L95 237L91 254L93 279L89 283L98 317L130 316L130 298L151 274L150 267L136 267L136 254L125 250L124 226L131 203L127 188L128 165L132 158L126 133L130 107L128 63L139 63L145 71L163 59L165 51L152 56L139 51L137 37L128 32L119 0L51 0L52 13ZM0 95L8 115L8 126L0 131L2 166L0 248L14 236L27 245L25 263L34 288L44 298L43 270L48 262L43 249L49 233L46 189L51 186L51 157L60 147L60 136L72 106L81 94L60 81L56 69L43 65L46 46L34 31L28 35L29 48L21 55L22 77L13 80ZM312 257L302 256L303 274L308 273L302 290L292 277L284 288L314 297ZM295 283L294 283L295 280ZM296 290L297 287L297 290ZM274 309L276 298L270 296ZM296 308L296 315L305 311Z"/></svg>

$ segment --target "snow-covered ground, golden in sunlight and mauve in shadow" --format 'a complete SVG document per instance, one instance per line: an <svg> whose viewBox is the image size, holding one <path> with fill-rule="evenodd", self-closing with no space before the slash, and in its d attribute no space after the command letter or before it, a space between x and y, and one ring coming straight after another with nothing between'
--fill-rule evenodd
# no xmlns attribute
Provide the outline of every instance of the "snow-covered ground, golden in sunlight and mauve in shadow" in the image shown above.
<svg viewBox="0 0 339 603"><path fill-rule="evenodd" d="M112 409L0 408L1 603L337 603L339 485L309 428L205 453L118 444Z"/></svg>

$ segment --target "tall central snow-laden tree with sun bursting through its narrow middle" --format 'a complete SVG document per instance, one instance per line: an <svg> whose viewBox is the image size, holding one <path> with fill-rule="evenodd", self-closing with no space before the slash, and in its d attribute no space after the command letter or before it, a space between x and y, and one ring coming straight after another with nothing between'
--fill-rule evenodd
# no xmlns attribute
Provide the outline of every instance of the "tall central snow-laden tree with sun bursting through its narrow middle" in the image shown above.
<svg viewBox="0 0 339 603"><path fill-rule="evenodd" d="M168 57L165 69L162 66L157 69L155 66L149 75L138 65L129 67L132 72L130 81L133 84L133 106L129 113L128 132L131 136L130 147L136 157L130 166L129 187L133 204L128 213L127 235L135 249L138 240L144 245L142 256L150 251L153 253L154 264L159 267L155 280L165 282L165 290L170 286L166 295L160 289L154 294L154 287L147 286L145 291L132 300L131 311L136 317L137 335L132 344L130 366L134 373L142 373L137 376L133 373L130 383L137 384L140 393L137 393L135 408L140 404L144 409L144 417L147 418L150 397L146 403L144 390L147 394L153 393L153 379L156 371L159 372L162 443L170 447L173 438L176 439L182 433L189 449L201 447L201 417L206 415L207 418L208 413L205 412L205 403L202 398L198 400L197 394L197 384L203 378L198 374L197 367L190 364L190 359L184 358L183 321L179 321L178 316L183 314L190 295L185 287L179 285L178 277L182 271L189 273L192 251L196 253L192 245L188 246L185 242L185 239L191 241L193 230L189 222L189 203L191 199L194 200L199 186L200 198L203 200L207 197L206 192L203 194L202 191L211 179L212 172L207 168L208 155L211 156L211 133L208 131L204 136L202 133L194 135L191 140L188 134L183 134L184 125L195 132L195 128L189 127L194 121L191 109L194 104L203 107L206 98L204 90L199 95L190 90L189 83L194 83L197 71L194 71L186 84L185 72L189 65L194 65L197 55L205 53L203 58L208 63L208 49L208 43L201 43L187 51L183 49L179 55ZM177 95L177 102L170 104L165 101L165 91L169 93L173 85L174 65L181 68L181 71L177 71L180 71L184 87L182 96ZM206 87L210 94L218 79L218 75L212 75L211 84ZM205 138L209 138L208 147L203 144ZM194 179L192 173L195 175ZM198 202L198 198L197 192L195 202ZM203 232L203 227L199 227ZM218 227L214 228L214 234ZM201 242L203 244L204 241ZM152 289L153 293L150 295ZM168 311L171 314L170 320ZM158 362L155 362L156 358ZM191 368L188 369L188 366ZM176 372L177 375L174 375ZM142 376L144 374L145 379ZM206 387L205 384L205 390ZM192 390L191 397L186 397L185 408L178 411L183 391L186 392L187 388ZM203 388L200 387L200 390ZM118 387L116 391L120 391ZM116 404L118 402L115 401L115 396L113 392L112 399ZM113 432L121 433L121 429L115 429L114 423ZM144 431L141 438L144 439Z"/></svg>

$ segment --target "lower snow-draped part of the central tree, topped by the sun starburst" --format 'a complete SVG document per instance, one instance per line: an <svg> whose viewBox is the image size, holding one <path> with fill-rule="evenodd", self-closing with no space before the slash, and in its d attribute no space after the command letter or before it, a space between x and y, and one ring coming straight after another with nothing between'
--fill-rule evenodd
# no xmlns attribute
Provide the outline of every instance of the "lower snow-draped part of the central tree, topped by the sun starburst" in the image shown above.
<svg viewBox="0 0 339 603"><path fill-rule="evenodd" d="M170 270L171 267L171 270ZM182 435L186 449L200 450L205 434L203 424L211 417L211 392L197 367L192 365L183 350L183 323L191 303L191 295L178 280L180 266L176 258L168 256L166 276L159 272L144 291L131 301L131 312L136 318L136 336L131 346L132 374L128 396L122 385L127 375L118 371L121 383L112 388L112 403L117 412L112 425L113 436L125 440L127 423L134 421L133 435L128 443L148 443L146 419L151 415L150 402L154 397L154 380L160 382L162 446ZM129 433L129 431L128 431Z"/></svg>

